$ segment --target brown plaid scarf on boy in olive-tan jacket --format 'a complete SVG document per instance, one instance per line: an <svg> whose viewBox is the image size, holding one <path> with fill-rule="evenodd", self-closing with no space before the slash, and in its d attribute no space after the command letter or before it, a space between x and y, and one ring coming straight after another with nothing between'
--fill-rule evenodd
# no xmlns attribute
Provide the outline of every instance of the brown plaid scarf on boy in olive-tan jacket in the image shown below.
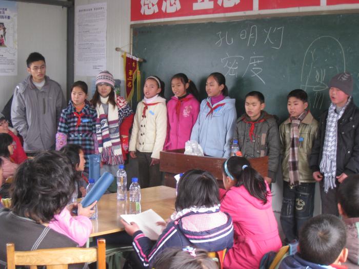
<svg viewBox="0 0 359 269"><path fill-rule="evenodd" d="M298 165L298 146L299 146L299 126L302 120L307 116L308 111L305 110L297 118L291 117L291 129L290 129L290 154L289 154L289 182L291 186L298 185L300 183L299 165Z"/></svg>

